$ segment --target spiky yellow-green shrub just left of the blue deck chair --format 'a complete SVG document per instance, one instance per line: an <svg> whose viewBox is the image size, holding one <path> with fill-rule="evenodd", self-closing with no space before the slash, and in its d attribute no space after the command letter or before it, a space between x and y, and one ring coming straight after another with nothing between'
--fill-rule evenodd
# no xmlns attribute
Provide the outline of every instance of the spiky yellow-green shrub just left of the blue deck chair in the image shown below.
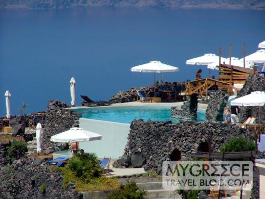
<svg viewBox="0 0 265 199"><path fill-rule="evenodd" d="M67 169L74 172L74 175L85 182L91 181L93 178L98 178L102 175L102 169L98 163L98 157L95 153L78 154L72 158Z"/></svg>

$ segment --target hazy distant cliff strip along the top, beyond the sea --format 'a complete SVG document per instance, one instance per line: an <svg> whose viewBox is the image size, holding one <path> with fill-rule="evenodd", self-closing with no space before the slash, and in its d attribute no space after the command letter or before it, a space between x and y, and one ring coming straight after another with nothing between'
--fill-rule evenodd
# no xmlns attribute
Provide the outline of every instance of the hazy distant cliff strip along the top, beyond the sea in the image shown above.
<svg viewBox="0 0 265 199"><path fill-rule="evenodd" d="M265 10L264 0L0 0L6 9L63 9L78 7L209 8Z"/></svg>

